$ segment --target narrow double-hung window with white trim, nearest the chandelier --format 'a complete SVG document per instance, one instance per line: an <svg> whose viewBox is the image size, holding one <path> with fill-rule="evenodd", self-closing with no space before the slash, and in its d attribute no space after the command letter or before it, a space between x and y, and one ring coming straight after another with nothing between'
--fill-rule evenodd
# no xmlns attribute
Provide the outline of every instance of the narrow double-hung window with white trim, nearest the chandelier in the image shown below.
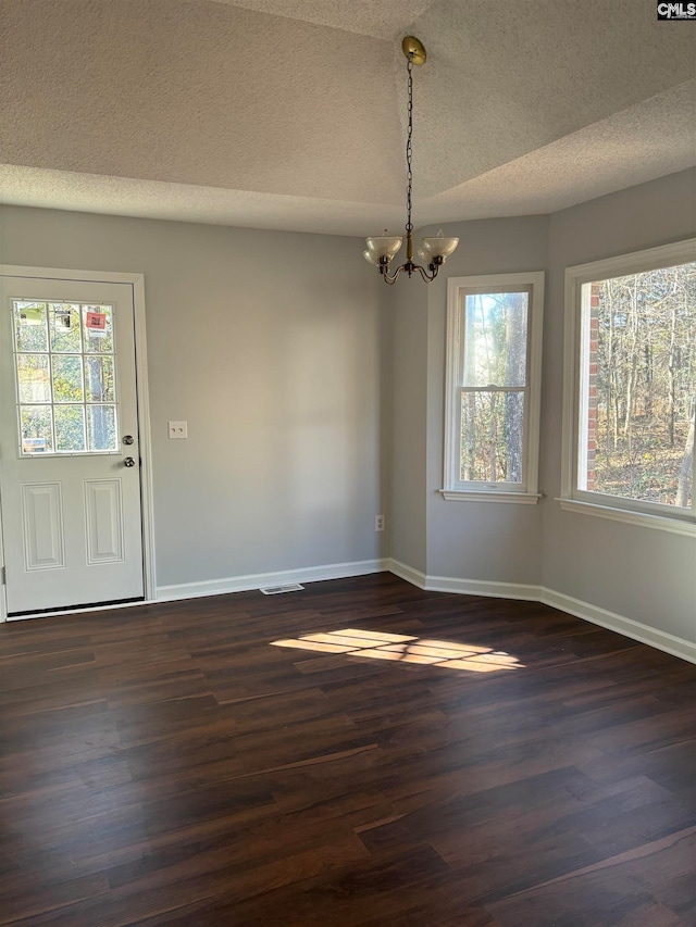
<svg viewBox="0 0 696 927"><path fill-rule="evenodd" d="M543 309L543 272L450 278L446 499L537 501Z"/></svg>

